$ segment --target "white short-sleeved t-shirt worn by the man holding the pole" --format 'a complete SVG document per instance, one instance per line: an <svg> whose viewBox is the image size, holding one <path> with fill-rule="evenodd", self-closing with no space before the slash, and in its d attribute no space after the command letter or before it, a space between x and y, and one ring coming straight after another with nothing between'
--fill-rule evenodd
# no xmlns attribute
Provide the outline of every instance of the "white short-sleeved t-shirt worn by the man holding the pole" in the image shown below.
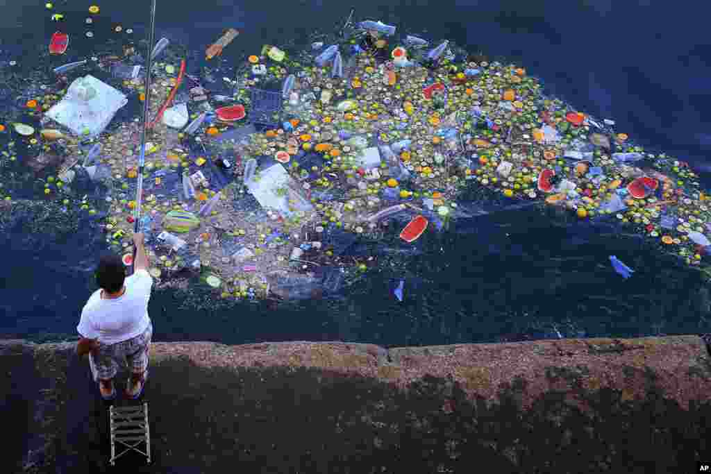
<svg viewBox="0 0 711 474"><path fill-rule="evenodd" d="M82 309L77 331L87 339L99 339L105 345L121 343L141 335L151 323L148 301L153 278L144 269L135 271L124 280L122 296L102 299L98 289Z"/></svg>

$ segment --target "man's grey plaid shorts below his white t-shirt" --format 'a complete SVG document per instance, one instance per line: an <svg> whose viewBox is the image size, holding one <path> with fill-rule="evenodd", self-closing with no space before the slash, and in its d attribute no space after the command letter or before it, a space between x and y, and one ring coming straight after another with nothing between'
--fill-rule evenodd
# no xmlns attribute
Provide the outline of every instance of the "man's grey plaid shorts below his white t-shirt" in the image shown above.
<svg viewBox="0 0 711 474"><path fill-rule="evenodd" d="M152 335L153 323L149 323L144 333L135 338L112 345L99 345L96 358L89 354L94 381L114 378L119 365L128 367L131 372L144 372L148 368L148 350Z"/></svg>

